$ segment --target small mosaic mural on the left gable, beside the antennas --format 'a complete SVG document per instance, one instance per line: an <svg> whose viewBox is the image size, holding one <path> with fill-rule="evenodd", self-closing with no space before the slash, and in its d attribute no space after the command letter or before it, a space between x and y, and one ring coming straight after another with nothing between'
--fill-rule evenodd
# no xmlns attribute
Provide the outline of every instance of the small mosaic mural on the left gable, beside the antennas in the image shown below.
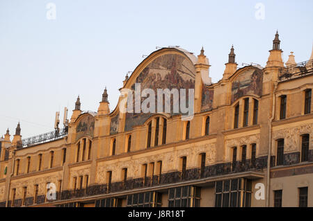
<svg viewBox="0 0 313 221"><path fill-rule="evenodd" d="M95 118L90 114L83 116L76 127L76 140L79 140L83 136L93 137L93 131L95 130Z"/></svg>

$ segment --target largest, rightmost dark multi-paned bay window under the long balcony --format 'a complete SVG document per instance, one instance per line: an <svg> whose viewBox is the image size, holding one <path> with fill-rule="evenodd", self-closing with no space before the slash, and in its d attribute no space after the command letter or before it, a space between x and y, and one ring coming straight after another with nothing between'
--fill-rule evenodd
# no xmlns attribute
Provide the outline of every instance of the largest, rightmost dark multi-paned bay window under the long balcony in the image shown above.
<svg viewBox="0 0 313 221"><path fill-rule="evenodd" d="M216 182L216 207L250 207L252 183L239 178Z"/></svg>

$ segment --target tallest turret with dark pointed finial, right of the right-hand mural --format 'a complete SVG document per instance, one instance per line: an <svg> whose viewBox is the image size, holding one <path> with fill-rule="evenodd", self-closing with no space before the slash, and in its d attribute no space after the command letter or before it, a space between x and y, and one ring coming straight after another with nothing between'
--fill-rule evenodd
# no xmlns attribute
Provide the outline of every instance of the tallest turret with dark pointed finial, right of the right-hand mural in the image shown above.
<svg viewBox="0 0 313 221"><path fill-rule="evenodd" d="M273 40L273 49L270 52L266 67L284 67L282 62L282 50L280 49L280 39L278 31L276 32L275 39Z"/></svg>

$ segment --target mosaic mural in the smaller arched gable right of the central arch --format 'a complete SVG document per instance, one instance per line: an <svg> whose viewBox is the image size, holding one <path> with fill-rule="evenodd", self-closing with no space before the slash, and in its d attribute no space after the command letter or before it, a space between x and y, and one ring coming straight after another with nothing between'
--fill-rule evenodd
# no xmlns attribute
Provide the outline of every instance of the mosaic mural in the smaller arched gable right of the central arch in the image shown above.
<svg viewBox="0 0 313 221"><path fill-rule="evenodd" d="M263 71L247 69L232 82L232 103L248 94L262 95Z"/></svg>

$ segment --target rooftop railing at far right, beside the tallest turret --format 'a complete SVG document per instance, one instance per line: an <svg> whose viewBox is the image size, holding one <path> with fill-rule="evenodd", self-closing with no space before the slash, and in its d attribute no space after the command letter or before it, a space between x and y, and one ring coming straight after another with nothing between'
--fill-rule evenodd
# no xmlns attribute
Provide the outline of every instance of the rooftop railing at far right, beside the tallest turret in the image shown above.
<svg viewBox="0 0 313 221"><path fill-rule="evenodd" d="M278 78L280 80L289 80L313 73L313 60L292 64L279 69Z"/></svg>

